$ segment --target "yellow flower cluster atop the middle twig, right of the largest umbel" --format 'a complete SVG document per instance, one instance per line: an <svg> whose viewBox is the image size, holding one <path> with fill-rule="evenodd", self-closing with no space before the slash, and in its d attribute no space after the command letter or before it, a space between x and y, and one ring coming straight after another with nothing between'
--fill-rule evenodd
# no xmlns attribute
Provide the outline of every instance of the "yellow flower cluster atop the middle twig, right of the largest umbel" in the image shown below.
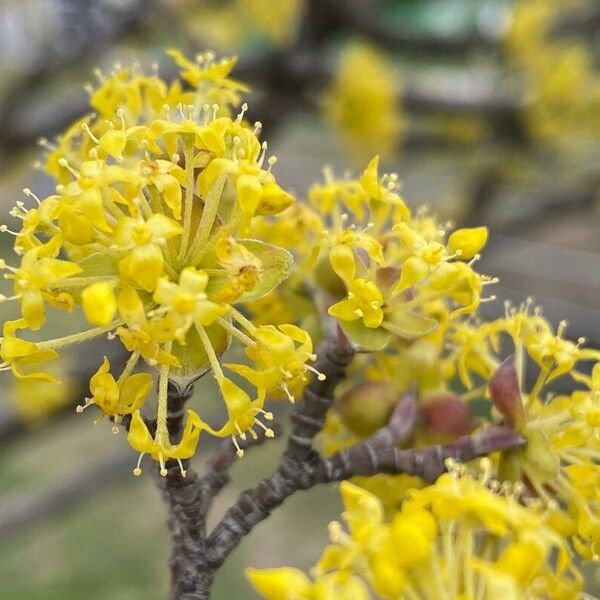
<svg viewBox="0 0 600 600"><path fill-rule="evenodd" d="M257 219L257 236L287 247L296 271L286 288L309 289L316 310L335 317L361 350L404 347L442 322L473 313L496 279L475 270L487 229L450 235L434 217L412 215L395 174L379 174L373 158L358 179L313 185L308 205L294 205L269 222ZM438 332L437 334L434 332Z"/></svg>

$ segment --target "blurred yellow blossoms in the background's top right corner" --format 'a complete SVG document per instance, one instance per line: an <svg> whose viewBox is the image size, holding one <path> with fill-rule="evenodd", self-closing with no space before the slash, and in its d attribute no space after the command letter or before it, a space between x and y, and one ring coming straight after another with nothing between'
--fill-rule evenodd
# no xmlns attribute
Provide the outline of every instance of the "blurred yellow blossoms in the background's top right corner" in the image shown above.
<svg viewBox="0 0 600 600"><path fill-rule="evenodd" d="M505 46L526 90L525 119L531 133L555 143L595 138L600 131L600 76L593 43L568 27L573 9L594 2L518 0Z"/></svg>

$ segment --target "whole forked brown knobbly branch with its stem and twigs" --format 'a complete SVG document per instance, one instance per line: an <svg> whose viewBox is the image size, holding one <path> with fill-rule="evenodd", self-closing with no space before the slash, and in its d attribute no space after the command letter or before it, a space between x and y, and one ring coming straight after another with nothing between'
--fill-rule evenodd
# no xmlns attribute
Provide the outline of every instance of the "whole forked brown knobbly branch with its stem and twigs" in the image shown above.
<svg viewBox="0 0 600 600"><path fill-rule="evenodd" d="M323 456L314 447L314 437L323 428L334 390L344 379L353 356L354 351L335 336L322 342L315 366L326 378L313 378L296 404L293 428L277 468L256 487L242 492L212 531L207 532L207 515L215 496L229 482L229 468L237 460L235 448L229 440L221 442L202 476L186 464L184 477L176 462L167 462L166 477L157 477L157 481L169 506L173 542L171 600L208 599L216 571L242 538L300 490L376 473L406 473L432 482L446 470L450 458L468 461L524 444L508 427L489 427L447 445L399 449L412 436L418 419L416 397L409 393L386 427L351 448ZM173 442L181 436L185 403L190 396L191 389L182 393L176 386L169 386L168 422ZM263 441L262 437L248 438L242 441L242 449Z"/></svg>

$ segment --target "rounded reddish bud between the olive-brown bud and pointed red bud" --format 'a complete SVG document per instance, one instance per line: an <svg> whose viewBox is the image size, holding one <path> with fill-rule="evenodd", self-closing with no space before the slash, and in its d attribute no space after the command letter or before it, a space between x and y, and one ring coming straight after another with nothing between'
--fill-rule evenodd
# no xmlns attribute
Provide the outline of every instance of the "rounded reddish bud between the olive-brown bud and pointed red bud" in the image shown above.
<svg viewBox="0 0 600 600"><path fill-rule="evenodd" d="M419 407L421 423L435 436L460 437L471 433L476 420L459 396L451 393L430 396Z"/></svg>

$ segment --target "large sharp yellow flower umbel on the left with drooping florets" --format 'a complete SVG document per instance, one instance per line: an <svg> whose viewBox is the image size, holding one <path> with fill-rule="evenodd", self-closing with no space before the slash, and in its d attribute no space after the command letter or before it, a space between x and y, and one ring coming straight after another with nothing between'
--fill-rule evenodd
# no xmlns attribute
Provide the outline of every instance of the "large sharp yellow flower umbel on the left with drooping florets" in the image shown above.
<svg viewBox="0 0 600 600"><path fill-rule="evenodd" d="M172 84L139 68L98 73L99 86L89 88L95 114L56 145L44 142L56 194L39 199L26 190L36 206L18 202L11 212L22 221L14 232L20 264L1 265L14 281L14 295L2 300L18 301L21 318L4 325L0 368L53 381L37 365L57 358L57 350L103 334L118 337L130 352L122 373L111 374L105 358L78 410L95 405L115 428L130 415L129 442L159 461L163 473L166 460L193 455L202 429L254 435L258 416L270 416L263 410L267 387L304 377L306 361L314 359L303 330L290 325L278 330L283 344L269 341L234 308L259 300L288 276L286 250L242 235L257 215L276 215L294 200L272 173L276 161L259 140L260 123L244 120L245 104L230 116L246 91L229 76L236 60L169 54L182 68ZM44 325L47 305L80 306L94 327L42 342L25 339L25 330ZM255 401L221 371L218 356L232 338L250 344L249 355L257 352L257 372L275 358L281 381L258 377ZM150 372L136 372L142 361ZM168 383L186 387L211 368L227 423L212 429L190 411L184 436L173 445ZM150 432L139 410L153 386L152 371L159 385Z"/></svg>

